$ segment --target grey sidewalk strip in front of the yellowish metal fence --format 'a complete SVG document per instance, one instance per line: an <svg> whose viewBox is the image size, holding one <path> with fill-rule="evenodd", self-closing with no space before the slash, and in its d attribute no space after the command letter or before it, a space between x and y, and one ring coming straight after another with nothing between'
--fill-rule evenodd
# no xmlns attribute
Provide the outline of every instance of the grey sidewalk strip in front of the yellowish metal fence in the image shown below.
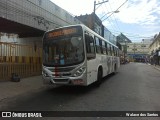
<svg viewBox="0 0 160 120"><path fill-rule="evenodd" d="M0 82L0 101L42 87L45 87L42 76L23 78L20 82Z"/></svg>

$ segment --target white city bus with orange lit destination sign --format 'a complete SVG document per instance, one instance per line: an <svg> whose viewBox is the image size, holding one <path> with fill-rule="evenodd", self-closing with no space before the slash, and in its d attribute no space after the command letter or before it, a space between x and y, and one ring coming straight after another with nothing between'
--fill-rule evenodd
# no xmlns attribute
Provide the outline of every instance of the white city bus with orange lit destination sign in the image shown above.
<svg viewBox="0 0 160 120"><path fill-rule="evenodd" d="M119 66L118 47L84 25L65 26L44 34L44 84L99 85Z"/></svg>

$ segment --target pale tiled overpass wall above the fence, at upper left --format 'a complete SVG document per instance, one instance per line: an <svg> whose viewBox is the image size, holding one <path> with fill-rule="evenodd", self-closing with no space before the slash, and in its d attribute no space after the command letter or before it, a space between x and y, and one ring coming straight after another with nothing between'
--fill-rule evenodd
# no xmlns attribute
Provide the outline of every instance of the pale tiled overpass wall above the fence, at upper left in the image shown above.
<svg viewBox="0 0 160 120"><path fill-rule="evenodd" d="M0 17L44 31L80 23L49 0L0 0Z"/></svg>

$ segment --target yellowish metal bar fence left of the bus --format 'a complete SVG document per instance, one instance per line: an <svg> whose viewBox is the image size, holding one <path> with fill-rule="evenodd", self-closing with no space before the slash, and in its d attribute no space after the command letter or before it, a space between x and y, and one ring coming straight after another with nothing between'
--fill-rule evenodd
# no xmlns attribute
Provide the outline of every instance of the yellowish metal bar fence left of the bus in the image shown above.
<svg viewBox="0 0 160 120"><path fill-rule="evenodd" d="M11 79L12 73L22 77L41 74L42 48L0 42L0 80Z"/></svg>

